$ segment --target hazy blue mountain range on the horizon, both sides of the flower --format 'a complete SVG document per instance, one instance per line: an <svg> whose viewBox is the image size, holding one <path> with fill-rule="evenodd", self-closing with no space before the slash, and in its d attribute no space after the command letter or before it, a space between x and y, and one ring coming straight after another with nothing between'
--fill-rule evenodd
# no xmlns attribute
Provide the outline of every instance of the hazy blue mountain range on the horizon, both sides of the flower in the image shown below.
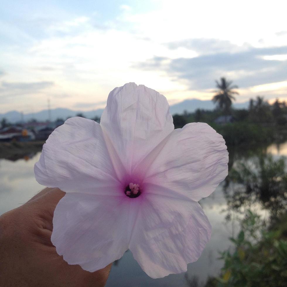
<svg viewBox="0 0 287 287"><path fill-rule="evenodd" d="M215 107L214 103L211 100L198 100L198 99L190 99L184 100L183 102L179 102L175 105L170 106L170 113L174 114L182 114L184 110L188 112L194 112L197 109L204 110L213 110ZM248 102L244 103L235 103L233 107L236 109L247 109ZM65 108L57 108L51 110L51 119L54 121L57 118L66 119L67 117L74 117L77 114L83 114L84 117L93 118L95 116L100 117L102 115L104 109L92 110L87 112L82 111L74 111ZM20 122L21 121L21 113L17 111L6 112L5 114L0 114L0 120L6 118L8 122ZM24 114L23 119L25 122L28 122L31 119L36 119L37 121L45 121L49 119L48 110L42 110L36 113Z"/></svg>

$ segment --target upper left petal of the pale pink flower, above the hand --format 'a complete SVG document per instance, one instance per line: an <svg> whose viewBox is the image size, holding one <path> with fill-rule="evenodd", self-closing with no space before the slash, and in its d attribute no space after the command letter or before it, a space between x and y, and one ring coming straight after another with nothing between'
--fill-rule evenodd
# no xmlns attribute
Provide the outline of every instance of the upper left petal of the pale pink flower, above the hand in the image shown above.
<svg viewBox="0 0 287 287"><path fill-rule="evenodd" d="M100 124L82 117L55 129L35 164L37 182L65 192L117 195L117 174Z"/></svg>

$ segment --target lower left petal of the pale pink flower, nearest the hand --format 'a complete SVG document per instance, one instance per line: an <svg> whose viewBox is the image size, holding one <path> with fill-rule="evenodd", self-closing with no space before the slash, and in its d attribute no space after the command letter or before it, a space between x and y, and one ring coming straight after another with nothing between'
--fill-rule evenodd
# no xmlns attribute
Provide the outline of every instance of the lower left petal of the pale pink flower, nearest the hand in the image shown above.
<svg viewBox="0 0 287 287"><path fill-rule="evenodd" d="M127 197L66 193L54 211L51 241L69 264L94 272L128 249Z"/></svg>

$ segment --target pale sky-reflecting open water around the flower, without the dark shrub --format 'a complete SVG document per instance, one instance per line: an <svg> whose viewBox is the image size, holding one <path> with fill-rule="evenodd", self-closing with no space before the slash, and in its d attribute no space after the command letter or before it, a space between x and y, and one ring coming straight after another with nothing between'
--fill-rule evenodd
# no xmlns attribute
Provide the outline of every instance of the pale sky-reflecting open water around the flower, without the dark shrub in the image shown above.
<svg viewBox="0 0 287 287"><path fill-rule="evenodd" d="M276 160L279 156L287 156L287 143L271 145L265 151L272 154ZM34 164L39 157L40 153L30 154L16 161L0 159L0 214L25 203L43 188L35 181L33 171ZM243 156L238 152L230 153L233 167L236 167L243 158L248 163L254 160L254 154ZM233 189L236 189L236 184L231 181L227 188L224 188L224 184L225 182L221 183L211 196L199 202L213 230L211 240L201 257L197 262L188 265L187 273L151 279L141 270L131 252L127 251L122 259L113 265L106 286L192 286L188 281L197 279L199 283L204 283L208 276L216 276L223 264L218 260L218 251L226 250L231 246L228 238L238 233L238 225L233 218L239 212L230 206L226 197L226 191L230 194ZM259 200L251 200L249 207L255 209L263 217L269 216L269 210L263 208ZM244 210L247 207L242 208ZM226 216L229 216L231 220L226 220Z"/></svg>

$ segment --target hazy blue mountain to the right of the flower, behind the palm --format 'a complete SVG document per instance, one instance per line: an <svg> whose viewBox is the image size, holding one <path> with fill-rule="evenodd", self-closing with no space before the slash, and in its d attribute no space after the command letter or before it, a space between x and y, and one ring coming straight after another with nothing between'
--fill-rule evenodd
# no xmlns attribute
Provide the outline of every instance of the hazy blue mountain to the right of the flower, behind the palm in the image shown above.
<svg viewBox="0 0 287 287"><path fill-rule="evenodd" d="M232 106L235 109L247 109L249 102L243 103L234 103ZM183 102L179 102L175 105L170 106L170 113L174 114L182 114L184 110L187 112L194 112L197 109L203 110L213 110L215 108L215 104L211 100L198 100L198 99L190 99L184 100Z"/></svg>

